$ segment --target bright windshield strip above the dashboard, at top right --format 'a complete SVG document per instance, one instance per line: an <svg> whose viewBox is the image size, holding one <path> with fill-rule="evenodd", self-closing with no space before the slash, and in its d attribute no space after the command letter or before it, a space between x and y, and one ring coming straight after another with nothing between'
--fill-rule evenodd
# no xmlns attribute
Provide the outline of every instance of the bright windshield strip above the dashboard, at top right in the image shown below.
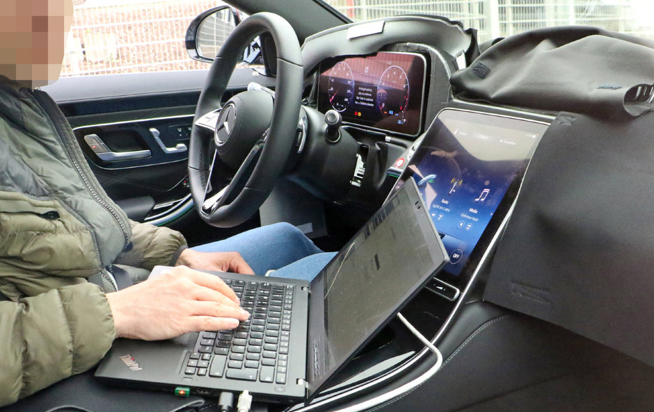
<svg viewBox="0 0 654 412"><path fill-rule="evenodd" d="M326 0L353 21L426 14L477 28L481 42L534 28L585 25L654 38L652 0Z"/></svg>

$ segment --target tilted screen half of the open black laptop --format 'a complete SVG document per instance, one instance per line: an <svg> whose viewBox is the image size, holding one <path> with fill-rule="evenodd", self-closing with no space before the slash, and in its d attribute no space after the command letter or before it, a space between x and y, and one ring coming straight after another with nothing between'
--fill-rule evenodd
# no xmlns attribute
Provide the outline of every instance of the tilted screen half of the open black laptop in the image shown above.
<svg viewBox="0 0 654 412"><path fill-rule="evenodd" d="M310 285L308 397L446 261L438 232L409 180Z"/></svg>

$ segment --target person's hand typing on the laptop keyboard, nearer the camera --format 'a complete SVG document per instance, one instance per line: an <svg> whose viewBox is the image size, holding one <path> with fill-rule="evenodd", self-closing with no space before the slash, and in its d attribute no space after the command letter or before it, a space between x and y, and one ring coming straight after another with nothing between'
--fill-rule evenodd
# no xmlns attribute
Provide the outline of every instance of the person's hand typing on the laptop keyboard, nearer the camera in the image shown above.
<svg viewBox="0 0 654 412"><path fill-rule="evenodd" d="M192 331L234 329L250 316L220 278L185 266L107 293L106 299L119 338L160 340Z"/></svg>

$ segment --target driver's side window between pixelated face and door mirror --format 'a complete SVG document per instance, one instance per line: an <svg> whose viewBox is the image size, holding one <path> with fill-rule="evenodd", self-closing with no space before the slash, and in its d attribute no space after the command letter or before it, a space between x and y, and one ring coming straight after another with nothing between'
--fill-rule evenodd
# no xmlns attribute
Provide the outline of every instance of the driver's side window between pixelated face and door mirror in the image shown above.
<svg viewBox="0 0 654 412"><path fill-rule="evenodd" d="M75 9L62 76L207 69L184 35L214 0L87 0Z"/></svg>

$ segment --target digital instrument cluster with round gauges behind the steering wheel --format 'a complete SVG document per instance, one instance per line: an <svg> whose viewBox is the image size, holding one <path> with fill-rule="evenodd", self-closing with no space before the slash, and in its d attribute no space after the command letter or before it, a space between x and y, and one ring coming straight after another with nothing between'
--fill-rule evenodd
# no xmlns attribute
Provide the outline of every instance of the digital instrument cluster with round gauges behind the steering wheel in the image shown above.
<svg viewBox="0 0 654 412"><path fill-rule="evenodd" d="M425 66L415 53L330 60L320 67L318 110L336 110L344 121L372 129L417 135Z"/></svg>

